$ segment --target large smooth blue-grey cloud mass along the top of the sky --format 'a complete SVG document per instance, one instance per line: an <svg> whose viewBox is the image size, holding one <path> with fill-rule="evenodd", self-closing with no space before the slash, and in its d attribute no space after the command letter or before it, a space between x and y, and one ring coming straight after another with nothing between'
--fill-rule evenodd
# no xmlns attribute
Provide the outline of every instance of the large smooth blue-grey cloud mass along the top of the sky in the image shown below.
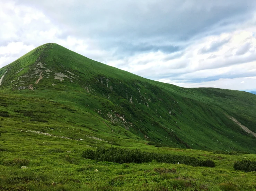
<svg viewBox="0 0 256 191"><path fill-rule="evenodd" d="M70 34L94 39L104 50L116 48L117 54L124 57L136 51L171 52L180 42L223 32L230 22L247 20L256 6L254 0L17 2L43 10L54 22L62 23ZM145 46L145 42L157 45ZM217 47L218 43L212 50Z"/></svg>

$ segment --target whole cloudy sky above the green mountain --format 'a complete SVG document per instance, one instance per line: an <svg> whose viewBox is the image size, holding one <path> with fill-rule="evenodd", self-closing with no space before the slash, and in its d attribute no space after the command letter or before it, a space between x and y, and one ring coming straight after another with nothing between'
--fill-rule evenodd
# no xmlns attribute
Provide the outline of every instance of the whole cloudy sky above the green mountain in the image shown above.
<svg viewBox="0 0 256 191"><path fill-rule="evenodd" d="M256 90L255 0L1 0L0 68L58 43L177 86Z"/></svg>

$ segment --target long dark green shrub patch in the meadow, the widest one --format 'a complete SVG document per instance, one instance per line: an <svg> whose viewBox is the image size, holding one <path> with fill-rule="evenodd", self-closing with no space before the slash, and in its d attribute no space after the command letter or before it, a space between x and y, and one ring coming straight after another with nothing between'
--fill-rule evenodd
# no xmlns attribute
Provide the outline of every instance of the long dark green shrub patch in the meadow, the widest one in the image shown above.
<svg viewBox="0 0 256 191"><path fill-rule="evenodd" d="M158 162L173 163L173 164L186 164L194 167L204 166L204 167L215 167L215 163L212 160L198 160L195 157L189 157L185 155L174 155L174 154L160 154L160 153L150 153L141 151L138 149L123 149L123 148L105 148L99 147L96 150L87 149L83 151L82 157L86 159L116 162L116 163L142 163L151 162L156 160Z"/></svg>

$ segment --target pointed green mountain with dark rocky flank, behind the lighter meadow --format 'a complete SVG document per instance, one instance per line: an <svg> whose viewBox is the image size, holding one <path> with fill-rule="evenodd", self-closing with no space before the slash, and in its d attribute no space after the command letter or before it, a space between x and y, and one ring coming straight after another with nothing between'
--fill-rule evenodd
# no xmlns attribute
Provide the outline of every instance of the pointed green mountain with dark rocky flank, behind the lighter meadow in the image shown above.
<svg viewBox="0 0 256 191"><path fill-rule="evenodd" d="M256 152L248 145L256 144L253 134L228 117L256 132L256 98L246 92L181 88L149 80L54 43L39 46L1 68L0 77L0 93L65 103L61 107L71 110L80 105L81 111L107 120L103 120L111 129L107 134L123 128L134 140L171 147ZM66 123L70 124L74 123Z"/></svg>

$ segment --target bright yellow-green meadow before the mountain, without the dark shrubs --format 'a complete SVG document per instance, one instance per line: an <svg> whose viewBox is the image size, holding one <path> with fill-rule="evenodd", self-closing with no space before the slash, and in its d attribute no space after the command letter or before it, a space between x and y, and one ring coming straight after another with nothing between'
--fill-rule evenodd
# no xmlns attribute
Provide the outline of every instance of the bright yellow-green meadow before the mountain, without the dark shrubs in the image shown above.
<svg viewBox="0 0 256 191"><path fill-rule="evenodd" d="M256 160L256 154L156 147L79 106L65 104L63 109L29 97L16 104L11 104L15 97L3 99L9 105L1 110L9 117L0 117L0 190L256 190L256 172L233 168L236 161ZM48 122L31 121L32 116ZM83 151L101 146L209 159L215 167L82 157Z"/></svg>

